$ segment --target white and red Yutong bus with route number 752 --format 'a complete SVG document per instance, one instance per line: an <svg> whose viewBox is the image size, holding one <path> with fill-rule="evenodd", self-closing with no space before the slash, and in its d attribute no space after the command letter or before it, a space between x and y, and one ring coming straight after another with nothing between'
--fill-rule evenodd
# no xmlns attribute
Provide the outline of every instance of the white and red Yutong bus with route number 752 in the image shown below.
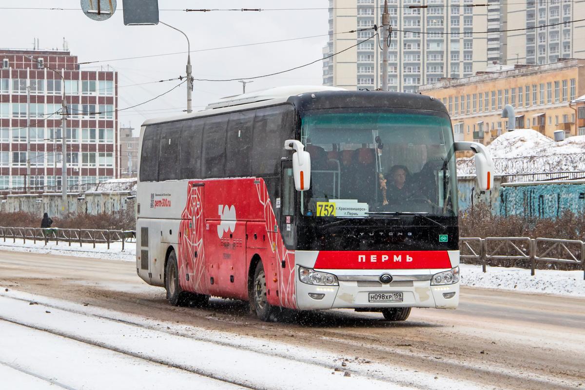
<svg viewBox="0 0 585 390"><path fill-rule="evenodd" d="M455 151L441 102L418 94L285 87L225 98L140 131L136 271L172 305L209 296L353 308L405 320L455 309Z"/></svg>

